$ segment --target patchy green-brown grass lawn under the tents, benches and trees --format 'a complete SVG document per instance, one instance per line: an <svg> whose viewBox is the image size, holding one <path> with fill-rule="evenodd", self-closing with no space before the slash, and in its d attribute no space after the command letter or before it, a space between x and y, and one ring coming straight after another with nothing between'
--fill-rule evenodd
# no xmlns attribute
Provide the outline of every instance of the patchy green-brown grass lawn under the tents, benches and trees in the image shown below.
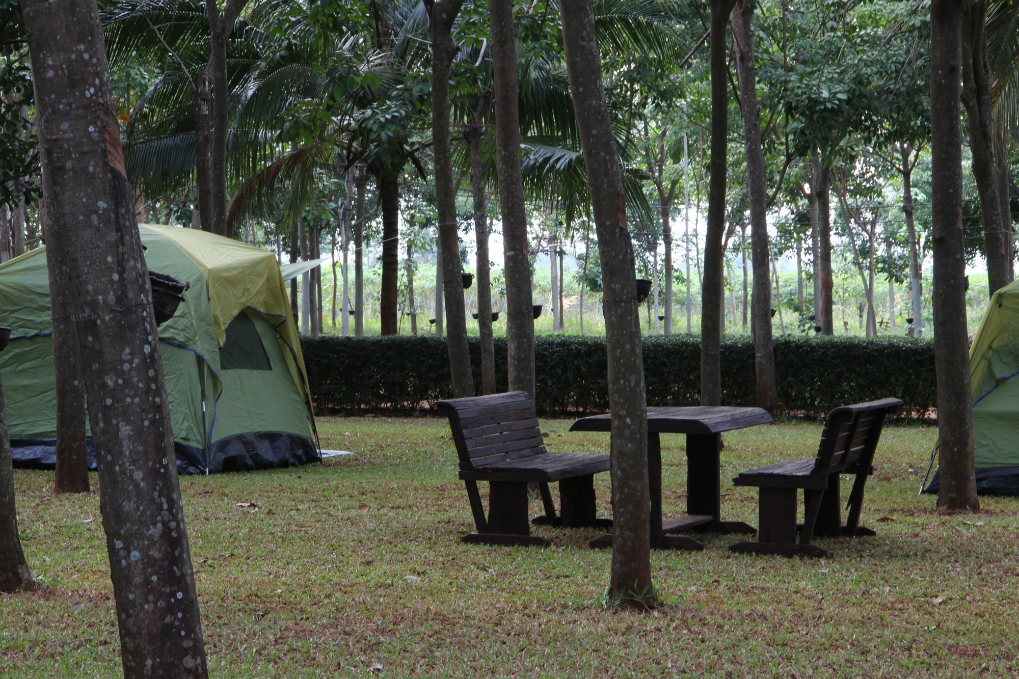
<svg viewBox="0 0 1019 679"><path fill-rule="evenodd" d="M731 555L732 535L655 553L664 603L636 614L601 604L610 556L586 549L596 529L537 527L544 550L460 543L473 522L444 420L320 423L324 448L356 455L181 479L216 676L1019 672L1019 500L937 515L917 495L931 428L886 429L863 510L877 537L820 539L823 560ZM607 451L605 434L569 425L544 421L550 450ZM756 490L729 479L806 457L819 435L802 423L726 434L722 518L756 524ZM683 447L662 435L666 514L685 504ZM608 475L595 479L607 516ZM44 586L0 595L0 675L119 674L98 494L56 498L49 472L15 483Z"/></svg>

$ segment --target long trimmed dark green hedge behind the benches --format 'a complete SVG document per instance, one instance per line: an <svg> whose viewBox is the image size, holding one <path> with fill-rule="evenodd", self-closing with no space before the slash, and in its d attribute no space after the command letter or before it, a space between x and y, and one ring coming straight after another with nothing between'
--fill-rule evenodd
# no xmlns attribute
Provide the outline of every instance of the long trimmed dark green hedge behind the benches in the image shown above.
<svg viewBox="0 0 1019 679"><path fill-rule="evenodd" d="M480 347L471 343L475 384L481 383ZM390 336L301 338L316 407L324 412L427 408L452 396L445 341ZM908 337L782 337L774 343L779 398L787 413L819 415L834 406L898 397L923 416L935 405L933 345ZM498 388L506 388L505 338L495 338ZM605 411L604 337L537 338L537 401L543 412ZM687 335L644 338L650 406L694 406L699 401L700 341ZM721 345L722 404L753 405L753 341Z"/></svg>

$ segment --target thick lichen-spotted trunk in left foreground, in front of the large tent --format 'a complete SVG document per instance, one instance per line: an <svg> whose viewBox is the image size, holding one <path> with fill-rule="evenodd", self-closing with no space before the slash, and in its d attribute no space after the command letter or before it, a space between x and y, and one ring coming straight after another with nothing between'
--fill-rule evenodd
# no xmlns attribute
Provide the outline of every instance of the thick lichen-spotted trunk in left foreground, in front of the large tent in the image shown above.
<svg viewBox="0 0 1019 679"><path fill-rule="evenodd" d="M124 675L206 676L149 271L96 4L22 7L33 70L47 73L35 87L57 244L48 258L70 272Z"/></svg>

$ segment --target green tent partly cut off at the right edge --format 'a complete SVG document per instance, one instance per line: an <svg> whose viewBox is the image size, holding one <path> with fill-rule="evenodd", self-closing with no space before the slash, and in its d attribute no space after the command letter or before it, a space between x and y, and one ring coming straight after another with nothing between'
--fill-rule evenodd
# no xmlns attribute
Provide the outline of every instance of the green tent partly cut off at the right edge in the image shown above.
<svg viewBox="0 0 1019 679"><path fill-rule="evenodd" d="M976 489L1019 494L1019 280L990 299L969 348ZM937 492L934 472L925 492Z"/></svg>

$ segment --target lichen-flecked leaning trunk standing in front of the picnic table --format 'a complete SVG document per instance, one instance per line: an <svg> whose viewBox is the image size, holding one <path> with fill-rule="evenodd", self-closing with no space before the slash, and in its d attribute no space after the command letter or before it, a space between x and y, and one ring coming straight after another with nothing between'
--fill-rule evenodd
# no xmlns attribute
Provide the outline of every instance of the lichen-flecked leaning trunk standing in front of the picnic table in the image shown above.
<svg viewBox="0 0 1019 679"><path fill-rule="evenodd" d="M653 607L647 462L647 404L634 253L615 137L601 83L590 0L561 0L562 42L587 166L604 291L608 403L611 409L612 570L609 595Z"/></svg>

